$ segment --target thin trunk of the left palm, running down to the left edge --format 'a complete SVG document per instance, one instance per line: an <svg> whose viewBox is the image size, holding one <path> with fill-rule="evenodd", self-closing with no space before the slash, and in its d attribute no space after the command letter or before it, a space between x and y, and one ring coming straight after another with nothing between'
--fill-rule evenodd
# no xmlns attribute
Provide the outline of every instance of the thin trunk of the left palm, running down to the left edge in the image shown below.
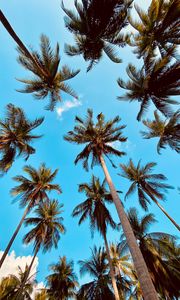
<svg viewBox="0 0 180 300"><path fill-rule="evenodd" d="M38 193L38 191L39 191L40 189L41 189L41 186L39 186L39 187L34 191L34 193L33 193L32 196L31 196L31 199L36 195L36 193ZM2 264L4 263L4 260L6 259L6 256L8 255L8 252L9 252L9 250L10 250L10 248L11 248L11 246L12 246L12 244L13 244L13 242L14 242L14 240L15 240L15 238L16 238L16 236L17 236L17 234L18 234L18 232L19 232L19 230L20 230L20 228L21 228L21 226L22 226L22 224L23 224L23 222L24 222L24 219L26 218L27 214L29 213L29 211L30 211L30 209L31 209L31 206L32 206L32 203L31 203L31 201L30 201L28 207L27 207L27 208L25 209L25 211L24 211L24 214L23 214L23 216L22 216L22 218L21 218L21 221L19 222L19 224L18 224L18 226L17 226L17 228L16 228L16 230L15 230L15 232L14 232L12 238L10 239L10 241L9 241L9 243L8 243L6 249L5 249L5 251L4 251L4 253L3 253L2 257L1 257L1 259L0 259L0 269L1 269Z"/></svg>

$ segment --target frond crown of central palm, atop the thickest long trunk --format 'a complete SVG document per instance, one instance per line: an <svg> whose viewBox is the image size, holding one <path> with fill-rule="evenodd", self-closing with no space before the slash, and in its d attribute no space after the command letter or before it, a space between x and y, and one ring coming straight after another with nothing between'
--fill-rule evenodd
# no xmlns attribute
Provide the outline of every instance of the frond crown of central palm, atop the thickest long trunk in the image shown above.
<svg viewBox="0 0 180 300"><path fill-rule="evenodd" d="M75 121L77 124L74 127L74 131L69 131L64 137L65 140L71 143L86 144L83 151L76 157L75 164L82 160L83 167L88 170L89 157L92 157L91 168L93 168L95 164L100 163L100 156L102 155L109 158L111 155L122 156L125 154L113 147L113 142L125 142L127 139L122 136L122 129L125 126L118 124L120 121L118 116L112 120L105 121L104 115L100 113L95 124L93 111L88 109L85 120L76 117Z"/></svg>

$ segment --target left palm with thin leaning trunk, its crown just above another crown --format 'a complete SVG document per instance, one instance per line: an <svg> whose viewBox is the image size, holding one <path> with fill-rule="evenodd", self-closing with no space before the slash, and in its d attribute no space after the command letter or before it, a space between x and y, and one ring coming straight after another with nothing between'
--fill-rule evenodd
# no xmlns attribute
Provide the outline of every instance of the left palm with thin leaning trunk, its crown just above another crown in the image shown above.
<svg viewBox="0 0 180 300"><path fill-rule="evenodd" d="M55 190L61 193L60 186L52 183L58 172L57 169L52 172L50 168L45 166L45 164L41 164L39 169L35 169L31 166L25 166L24 171L27 173L29 178L22 175L14 177L13 179L18 182L19 185L12 188L11 193L14 196L19 196L20 207L26 207L26 209L1 257L0 268L24 222L24 219L31 209L41 203L44 199L48 199L47 192Z"/></svg>

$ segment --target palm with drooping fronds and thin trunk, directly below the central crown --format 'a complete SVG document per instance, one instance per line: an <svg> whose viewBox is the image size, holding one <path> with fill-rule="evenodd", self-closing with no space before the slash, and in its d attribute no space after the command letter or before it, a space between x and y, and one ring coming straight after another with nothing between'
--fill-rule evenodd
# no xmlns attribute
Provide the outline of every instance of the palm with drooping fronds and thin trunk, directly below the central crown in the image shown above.
<svg viewBox="0 0 180 300"><path fill-rule="evenodd" d="M87 199L75 207L72 216L80 217L79 225L89 218L92 234L94 233L94 230L97 229L103 236L114 295L115 299L119 300L119 292L116 285L115 273L106 236L108 225L110 225L113 229L117 227L105 205L106 203L113 203L112 196L106 190L106 181L104 180L101 184L99 178L96 178L94 175L92 176L89 184L82 183L79 185L79 192L84 192Z"/></svg>

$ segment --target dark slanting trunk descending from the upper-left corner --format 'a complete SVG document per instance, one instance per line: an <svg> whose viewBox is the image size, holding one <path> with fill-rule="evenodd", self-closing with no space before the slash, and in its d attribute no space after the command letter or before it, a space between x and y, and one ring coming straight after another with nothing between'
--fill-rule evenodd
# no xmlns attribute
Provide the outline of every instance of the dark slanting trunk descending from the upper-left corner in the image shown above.
<svg viewBox="0 0 180 300"><path fill-rule="evenodd" d="M42 73L43 76L46 77L45 71L42 69L42 67L38 64L36 59L31 55L29 50L26 48L26 46L23 44L23 42L20 40L20 38L15 33L14 29L6 19L5 15L3 14L2 10L0 10L0 21L3 24L3 26L6 28L7 32L10 34L10 36L13 38L13 40L16 42L16 44L21 48L21 50L25 53L25 55L32 61L32 63L38 68L40 73Z"/></svg>

